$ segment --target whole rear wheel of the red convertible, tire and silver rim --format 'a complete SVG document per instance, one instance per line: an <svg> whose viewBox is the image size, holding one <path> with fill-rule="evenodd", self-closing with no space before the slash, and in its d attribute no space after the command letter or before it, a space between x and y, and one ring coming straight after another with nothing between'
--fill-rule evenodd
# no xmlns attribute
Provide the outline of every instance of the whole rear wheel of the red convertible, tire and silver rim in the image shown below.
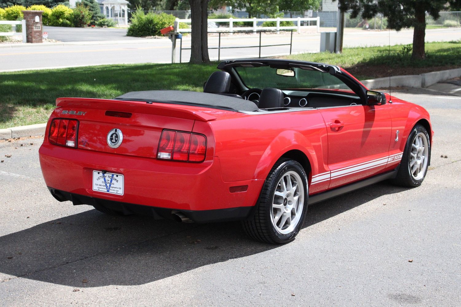
<svg viewBox="0 0 461 307"><path fill-rule="evenodd" d="M254 216L242 222L251 238L272 244L293 241L307 211L307 176L290 159L279 159L272 167L261 192Z"/></svg>

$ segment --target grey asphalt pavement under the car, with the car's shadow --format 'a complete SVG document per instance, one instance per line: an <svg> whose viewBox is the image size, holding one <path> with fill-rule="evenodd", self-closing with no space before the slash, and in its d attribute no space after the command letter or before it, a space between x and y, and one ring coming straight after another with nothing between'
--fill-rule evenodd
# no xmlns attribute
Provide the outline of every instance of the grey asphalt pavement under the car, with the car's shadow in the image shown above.
<svg viewBox="0 0 461 307"><path fill-rule="evenodd" d="M253 242L238 223L59 203L41 177L40 139L0 141L0 306L459 306L461 97L393 94L431 113L425 182L313 205L284 246Z"/></svg>

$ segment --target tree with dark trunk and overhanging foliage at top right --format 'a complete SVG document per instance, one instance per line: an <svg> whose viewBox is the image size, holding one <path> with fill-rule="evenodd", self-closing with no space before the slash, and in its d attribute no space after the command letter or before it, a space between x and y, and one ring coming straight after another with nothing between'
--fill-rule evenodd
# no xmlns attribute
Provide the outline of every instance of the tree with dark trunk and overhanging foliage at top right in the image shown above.
<svg viewBox="0 0 461 307"><path fill-rule="evenodd" d="M364 19L371 19L382 13L388 20L388 27L397 31L414 27L413 59L425 59L424 38L426 35L426 12L437 19L447 0L338 0L342 12L352 10L351 18L361 14ZM461 0L451 0L452 6Z"/></svg>

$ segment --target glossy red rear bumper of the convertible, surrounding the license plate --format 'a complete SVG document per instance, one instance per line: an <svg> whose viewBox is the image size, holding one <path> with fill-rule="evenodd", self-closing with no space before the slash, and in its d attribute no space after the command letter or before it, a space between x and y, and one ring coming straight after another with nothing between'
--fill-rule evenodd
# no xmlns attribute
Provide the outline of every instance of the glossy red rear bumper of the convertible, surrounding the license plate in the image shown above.
<svg viewBox="0 0 461 307"><path fill-rule="evenodd" d="M224 182L218 157L207 157L202 163L162 161L48 143L41 146L39 157L46 185L63 195L80 195L82 204L100 199L125 207L136 204L181 211L254 207L264 184L264 180ZM124 195L93 191L94 170L124 175ZM232 193L236 186L248 188ZM66 200L72 200L69 197Z"/></svg>

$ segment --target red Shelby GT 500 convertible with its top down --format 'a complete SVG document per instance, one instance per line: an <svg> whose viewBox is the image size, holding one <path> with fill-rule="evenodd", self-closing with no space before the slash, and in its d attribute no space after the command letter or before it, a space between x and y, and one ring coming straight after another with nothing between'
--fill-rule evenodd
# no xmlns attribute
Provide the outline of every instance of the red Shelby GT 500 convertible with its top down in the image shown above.
<svg viewBox="0 0 461 307"><path fill-rule="evenodd" d="M307 205L381 180L419 186L433 132L421 106L335 65L222 62L204 92L59 98L40 148L58 201L183 222L241 220L290 242Z"/></svg>

